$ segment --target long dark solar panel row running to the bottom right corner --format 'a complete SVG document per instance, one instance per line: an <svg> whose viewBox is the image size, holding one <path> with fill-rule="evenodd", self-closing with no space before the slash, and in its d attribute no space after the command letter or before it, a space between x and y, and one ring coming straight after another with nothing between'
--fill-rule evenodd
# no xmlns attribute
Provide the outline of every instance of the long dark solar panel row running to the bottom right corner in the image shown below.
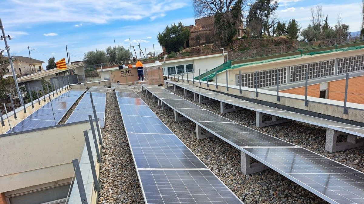
<svg viewBox="0 0 364 204"><path fill-rule="evenodd" d="M364 203L364 174L214 114L163 87L142 85L162 103L330 203Z"/></svg>

